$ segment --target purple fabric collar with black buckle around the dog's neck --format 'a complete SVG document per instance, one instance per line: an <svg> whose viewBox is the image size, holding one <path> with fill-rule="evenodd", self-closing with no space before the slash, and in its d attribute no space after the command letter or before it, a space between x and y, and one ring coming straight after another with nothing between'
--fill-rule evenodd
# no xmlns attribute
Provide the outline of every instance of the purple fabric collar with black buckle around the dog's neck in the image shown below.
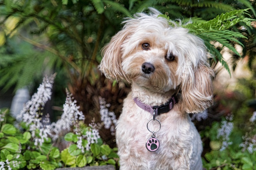
<svg viewBox="0 0 256 170"><path fill-rule="evenodd" d="M178 103L178 98L177 96L173 96L170 98L170 100L168 102L166 102L165 104L162 104L160 106L150 106L147 104L142 103L138 97L135 97L134 102L143 110L146 110L148 112L150 112L152 115L154 114L154 110L155 110L155 116L160 115L161 113L167 113L169 112L172 108L173 105L175 103Z"/></svg>

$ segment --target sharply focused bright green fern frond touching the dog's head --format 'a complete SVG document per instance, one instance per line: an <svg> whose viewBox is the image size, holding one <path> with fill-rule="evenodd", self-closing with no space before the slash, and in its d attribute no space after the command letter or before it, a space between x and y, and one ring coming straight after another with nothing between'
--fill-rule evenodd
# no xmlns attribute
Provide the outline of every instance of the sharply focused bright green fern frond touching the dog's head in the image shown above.
<svg viewBox="0 0 256 170"><path fill-rule="evenodd" d="M238 24L239 22L242 22L245 25L250 26L252 19L238 17L238 15L249 15L248 10L249 9L242 9L230 11L225 14L222 13L221 15L218 15L214 19L209 20L207 22L194 22L182 25L182 27L189 29L191 33L202 38L205 41L205 45L209 49L210 53L217 58L217 60L222 64L222 66L228 71L229 75L231 75L228 64L223 59L221 53L216 48L214 48L214 46L209 42L218 41L223 45L223 47L227 47L235 55L241 57L241 55L237 52L237 50L234 48L231 42L235 42L244 47L243 43L241 43L238 40L238 38L247 39L247 37L240 32L230 30L230 28ZM167 20L170 20L167 15L159 15L159 17L164 17ZM172 25L172 23L170 24ZM215 59L215 61L217 60Z"/></svg>

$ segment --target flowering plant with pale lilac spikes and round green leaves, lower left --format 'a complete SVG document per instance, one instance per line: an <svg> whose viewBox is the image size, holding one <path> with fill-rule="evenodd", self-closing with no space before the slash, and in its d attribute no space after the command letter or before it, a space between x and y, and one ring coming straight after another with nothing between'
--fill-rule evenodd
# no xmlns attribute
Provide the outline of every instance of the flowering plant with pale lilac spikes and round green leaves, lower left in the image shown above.
<svg viewBox="0 0 256 170"><path fill-rule="evenodd" d="M44 105L51 99L55 76L45 77L38 91L24 105L17 117L21 127L8 122L8 109L0 112L1 170L116 164L117 149L103 143L98 132L101 125L84 124L84 115L68 90L61 119L56 123L50 123L49 115L42 119ZM70 143L62 151L58 148L61 137Z"/></svg>

